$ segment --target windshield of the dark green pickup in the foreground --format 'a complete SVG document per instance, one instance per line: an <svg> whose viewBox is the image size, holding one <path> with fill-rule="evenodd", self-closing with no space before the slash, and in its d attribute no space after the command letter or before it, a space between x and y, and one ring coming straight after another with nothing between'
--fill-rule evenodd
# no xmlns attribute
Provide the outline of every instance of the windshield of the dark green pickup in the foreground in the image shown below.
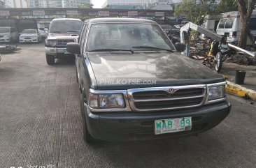
<svg viewBox="0 0 256 168"><path fill-rule="evenodd" d="M173 50L174 47L157 24L92 24L87 51L97 49ZM159 49L158 49L159 50Z"/></svg>

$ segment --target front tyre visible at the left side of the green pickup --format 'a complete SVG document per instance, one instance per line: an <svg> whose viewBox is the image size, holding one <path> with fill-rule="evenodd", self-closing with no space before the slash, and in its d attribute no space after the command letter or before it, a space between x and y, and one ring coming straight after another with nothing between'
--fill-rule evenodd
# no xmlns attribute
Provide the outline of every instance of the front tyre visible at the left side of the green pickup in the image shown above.
<svg viewBox="0 0 256 168"><path fill-rule="evenodd" d="M92 137L92 135L90 135L90 132L87 129L83 102L84 102L84 96L83 96L83 93L81 93L80 94L80 107L81 107L80 109L81 109L81 115L82 115L82 120L83 120L82 121L82 123L83 123L83 139L88 144L92 144L92 143L96 142L97 139L94 139L94 137Z"/></svg>

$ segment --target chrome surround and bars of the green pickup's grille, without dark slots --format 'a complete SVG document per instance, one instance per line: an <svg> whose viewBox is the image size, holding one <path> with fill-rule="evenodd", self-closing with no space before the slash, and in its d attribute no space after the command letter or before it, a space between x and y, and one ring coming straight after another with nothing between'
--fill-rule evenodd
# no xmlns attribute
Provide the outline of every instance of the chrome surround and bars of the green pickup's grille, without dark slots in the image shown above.
<svg viewBox="0 0 256 168"><path fill-rule="evenodd" d="M169 89L175 89L176 91L180 89L197 89L202 88L204 89L204 94L199 97L203 97L201 100L201 103L198 105L190 105L190 106L182 106L182 107L169 107L169 108L158 108L158 109L137 109L134 102L146 102L146 100L140 101L140 100L134 100L133 93L135 92L143 92L143 91L166 91L168 93ZM199 107L201 105L204 105L204 102L206 101L206 91L207 87L206 84L197 84L197 85L187 85L187 86L167 86L167 87L152 87L152 88L140 88L140 89L129 89L127 91L128 93L128 99L129 99L129 105L131 106L131 110L135 112L152 112L157 110L166 110L166 109L187 109L192 107ZM192 98L199 98L198 96L194 96ZM191 97L184 97L184 98L170 98L167 100L181 100L181 99L187 99ZM149 101L149 100L148 100ZM151 101L151 100L150 100ZM152 100L154 101L154 100Z"/></svg>

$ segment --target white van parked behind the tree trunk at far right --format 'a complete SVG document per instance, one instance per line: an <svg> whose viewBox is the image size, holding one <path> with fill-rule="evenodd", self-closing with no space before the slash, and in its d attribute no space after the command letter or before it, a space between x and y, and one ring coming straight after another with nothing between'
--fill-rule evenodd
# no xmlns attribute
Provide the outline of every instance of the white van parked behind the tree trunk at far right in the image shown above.
<svg viewBox="0 0 256 168"><path fill-rule="evenodd" d="M241 22L238 11L223 13L222 19L217 26L217 33L220 36L226 36L229 43L238 43L240 36ZM250 17L250 33L256 38L256 10L253 10ZM252 45L248 38L248 45Z"/></svg>

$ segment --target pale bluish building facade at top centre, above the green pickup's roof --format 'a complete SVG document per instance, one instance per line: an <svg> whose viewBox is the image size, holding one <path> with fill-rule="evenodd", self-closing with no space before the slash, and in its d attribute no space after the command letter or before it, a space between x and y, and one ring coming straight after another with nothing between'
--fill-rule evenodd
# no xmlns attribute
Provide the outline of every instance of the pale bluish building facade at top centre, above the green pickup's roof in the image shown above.
<svg viewBox="0 0 256 168"><path fill-rule="evenodd" d="M102 8L171 10L181 0L106 0Z"/></svg>

